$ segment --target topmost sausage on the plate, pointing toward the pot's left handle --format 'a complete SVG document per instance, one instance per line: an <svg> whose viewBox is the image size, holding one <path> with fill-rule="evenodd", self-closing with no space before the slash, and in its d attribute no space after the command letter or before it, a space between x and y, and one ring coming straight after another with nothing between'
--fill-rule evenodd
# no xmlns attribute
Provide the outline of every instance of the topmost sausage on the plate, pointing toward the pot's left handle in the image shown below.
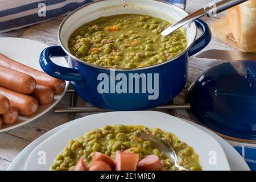
<svg viewBox="0 0 256 182"><path fill-rule="evenodd" d="M55 93L61 93L65 89L66 82L53 78L44 72L38 71L34 68L28 67L22 63L18 63L9 57L0 53L0 65L18 72L26 73L35 78L36 83L39 85L48 86Z"/></svg>

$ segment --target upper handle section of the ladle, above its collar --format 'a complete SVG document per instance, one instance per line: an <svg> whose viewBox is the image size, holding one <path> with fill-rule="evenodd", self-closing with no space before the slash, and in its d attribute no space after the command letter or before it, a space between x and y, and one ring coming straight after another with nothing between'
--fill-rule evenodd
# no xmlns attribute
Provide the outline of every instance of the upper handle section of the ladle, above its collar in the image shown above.
<svg viewBox="0 0 256 182"><path fill-rule="evenodd" d="M248 0L214 0L204 5L205 14L211 17Z"/></svg>

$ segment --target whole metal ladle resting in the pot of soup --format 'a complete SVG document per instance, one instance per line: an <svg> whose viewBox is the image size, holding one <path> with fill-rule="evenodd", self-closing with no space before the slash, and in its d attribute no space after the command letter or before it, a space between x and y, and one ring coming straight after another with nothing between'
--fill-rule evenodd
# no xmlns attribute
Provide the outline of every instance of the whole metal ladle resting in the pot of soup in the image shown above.
<svg viewBox="0 0 256 182"><path fill-rule="evenodd" d="M185 24L192 22L193 20L196 20L197 18L201 18L202 16L209 16L212 17L218 13L221 13L222 11L225 11L227 9L230 9L230 7L239 5L243 2L246 2L248 0L214 0L206 3L202 9L197 10L185 18L179 20L179 22L176 22L172 24L172 26L166 28L166 30L161 32L161 35L167 36L177 30L180 27L183 27Z"/></svg>

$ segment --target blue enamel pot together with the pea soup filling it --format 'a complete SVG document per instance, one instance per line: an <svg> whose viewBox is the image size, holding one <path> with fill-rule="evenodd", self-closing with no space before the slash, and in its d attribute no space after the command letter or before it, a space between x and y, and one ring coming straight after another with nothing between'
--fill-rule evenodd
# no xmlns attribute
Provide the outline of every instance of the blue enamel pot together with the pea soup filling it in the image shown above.
<svg viewBox="0 0 256 182"><path fill-rule="evenodd" d="M44 72L69 80L85 101L110 110L144 110L175 98L187 82L189 56L210 42L196 20L171 35L165 28L187 13L162 1L105 0L69 14L59 28L60 46L44 49ZM203 34L196 39L197 27ZM69 68L51 61L67 56Z"/></svg>

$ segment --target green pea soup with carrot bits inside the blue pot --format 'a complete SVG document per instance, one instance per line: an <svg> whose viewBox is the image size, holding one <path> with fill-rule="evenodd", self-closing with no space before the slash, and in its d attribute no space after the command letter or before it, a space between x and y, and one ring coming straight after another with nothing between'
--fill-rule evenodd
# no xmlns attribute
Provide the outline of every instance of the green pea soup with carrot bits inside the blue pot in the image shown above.
<svg viewBox="0 0 256 182"><path fill-rule="evenodd" d="M170 60L187 47L181 30L162 36L171 23L148 15L122 14L85 23L69 39L69 51L108 68L141 68Z"/></svg>

